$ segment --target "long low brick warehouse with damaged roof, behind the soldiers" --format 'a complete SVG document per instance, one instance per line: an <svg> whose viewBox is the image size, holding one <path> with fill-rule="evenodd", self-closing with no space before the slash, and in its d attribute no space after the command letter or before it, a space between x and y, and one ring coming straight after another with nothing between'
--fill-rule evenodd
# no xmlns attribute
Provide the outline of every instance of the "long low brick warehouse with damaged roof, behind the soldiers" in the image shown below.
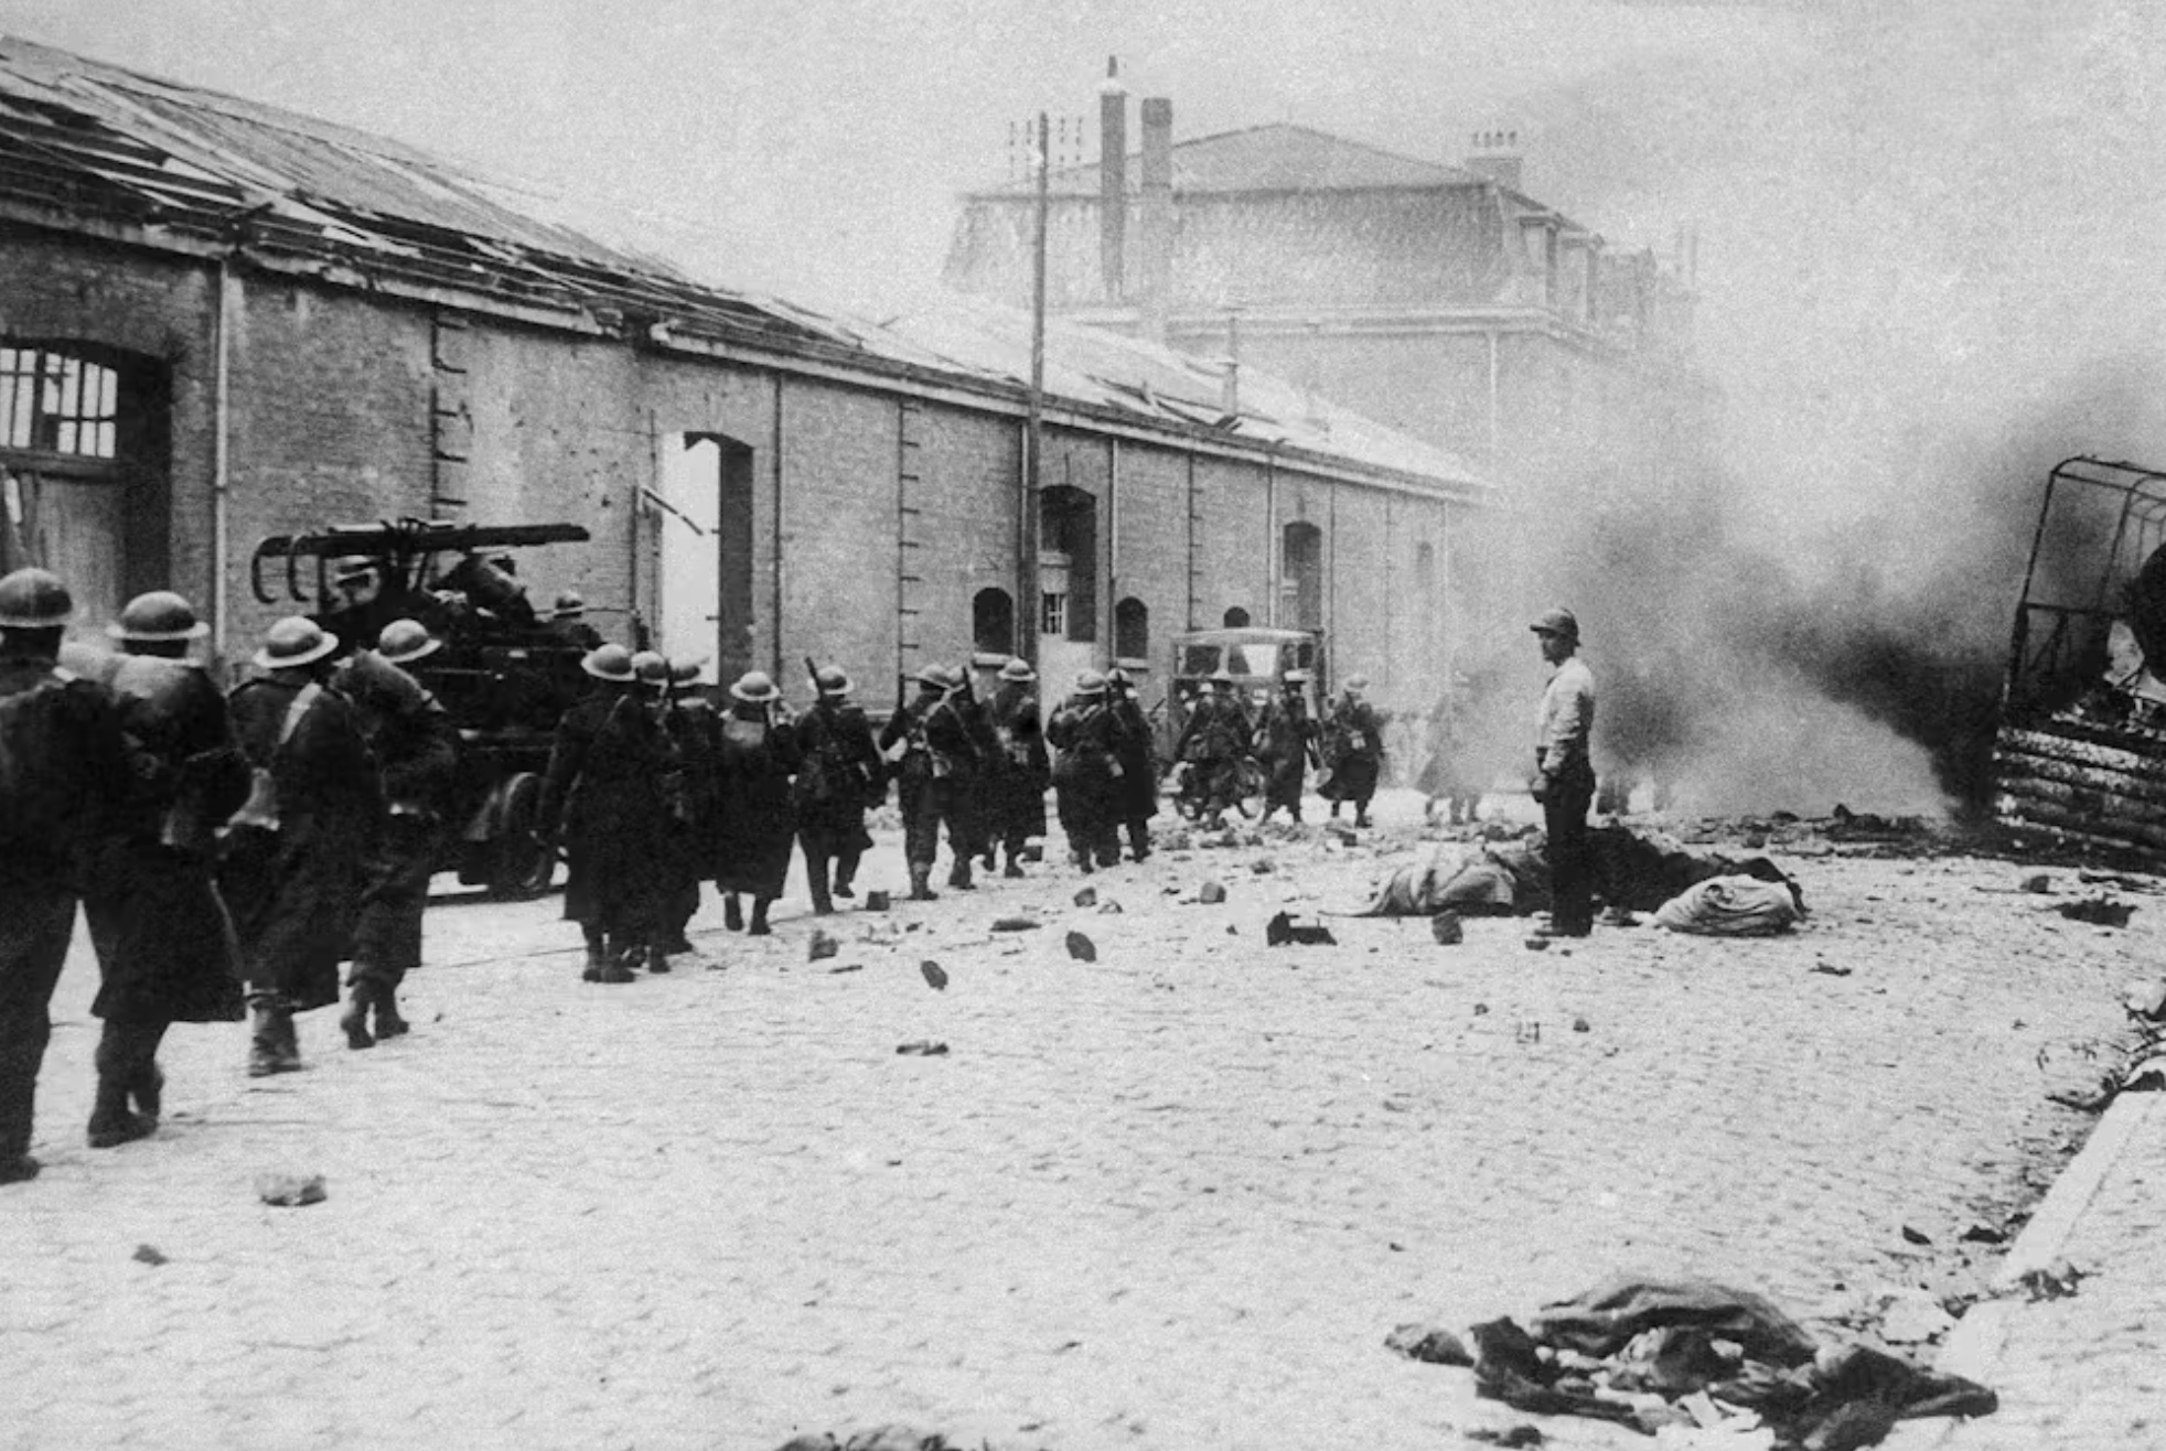
<svg viewBox="0 0 2166 1451"><path fill-rule="evenodd" d="M1022 576L1027 321L888 327L693 282L399 143L0 39L0 539L104 619L195 596L240 652L258 539L572 520L542 600L795 680L1031 645L1165 667L1245 613L1347 630L1425 700L1486 485L1310 392L1085 331L1051 342ZM697 533L693 531L697 524ZM95 622L93 622L95 624Z"/></svg>

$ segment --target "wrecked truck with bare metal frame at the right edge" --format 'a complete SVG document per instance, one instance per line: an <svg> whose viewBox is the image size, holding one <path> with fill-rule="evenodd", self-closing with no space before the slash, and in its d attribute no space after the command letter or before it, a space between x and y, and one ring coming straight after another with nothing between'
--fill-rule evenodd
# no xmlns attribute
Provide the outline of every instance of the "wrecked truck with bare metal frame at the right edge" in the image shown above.
<svg viewBox="0 0 2166 1451"><path fill-rule="evenodd" d="M2077 457L2045 481L2023 572L1993 812L2166 853L2166 474Z"/></svg>

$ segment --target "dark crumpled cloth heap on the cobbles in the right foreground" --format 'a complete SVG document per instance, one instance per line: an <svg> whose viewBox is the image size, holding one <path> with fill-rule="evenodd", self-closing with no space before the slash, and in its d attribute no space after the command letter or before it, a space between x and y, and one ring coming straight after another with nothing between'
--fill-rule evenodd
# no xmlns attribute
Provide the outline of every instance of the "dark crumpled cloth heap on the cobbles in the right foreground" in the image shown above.
<svg viewBox="0 0 2166 1451"><path fill-rule="evenodd" d="M1525 1412L1761 1432L1767 1447L1869 1447L1908 1416L1982 1416L1984 1386L1869 1345L1819 1347L1750 1291L1616 1278L1527 1328L1473 1328L1475 1390ZM1739 1442L1746 1445L1746 1442Z"/></svg>

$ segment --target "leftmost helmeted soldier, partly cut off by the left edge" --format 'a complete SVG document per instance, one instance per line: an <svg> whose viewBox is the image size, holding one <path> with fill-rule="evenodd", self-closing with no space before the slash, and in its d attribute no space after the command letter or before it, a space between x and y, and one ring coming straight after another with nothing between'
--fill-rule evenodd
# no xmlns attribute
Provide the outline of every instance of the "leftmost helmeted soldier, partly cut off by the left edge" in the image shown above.
<svg viewBox="0 0 2166 1451"><path fill-rule="evenodd" d="M74 613L45 570L0 578L0 1185L32 1178L48 1005L87 855L115 825L128 747L113 693L61 669Z"/></svg>

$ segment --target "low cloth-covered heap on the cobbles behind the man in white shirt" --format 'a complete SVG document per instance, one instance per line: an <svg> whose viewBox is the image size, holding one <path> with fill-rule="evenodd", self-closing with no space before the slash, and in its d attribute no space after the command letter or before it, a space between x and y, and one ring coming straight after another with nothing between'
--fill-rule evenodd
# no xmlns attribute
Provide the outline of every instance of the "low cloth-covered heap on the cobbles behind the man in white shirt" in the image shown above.
<svg viewBox="0 0 2166 1451"><path fill-rule="evenodd" d="M1720 936L1780 931L1804 916L1804 890L1765 855L1685 851L1668 838L1640 836L1614 823L1588 832L1588 845L1594 897L1614 912L1659 914L1685 899L1672 920L1657 920L1676 931ZM1724 888L1694 894L1709 881ZM1393 873L1354 916L1523 916L1547 910L1549 855L1547 840L1536 832L1521 840L1484 842L1466 858L1438 847Z"/></svg>

